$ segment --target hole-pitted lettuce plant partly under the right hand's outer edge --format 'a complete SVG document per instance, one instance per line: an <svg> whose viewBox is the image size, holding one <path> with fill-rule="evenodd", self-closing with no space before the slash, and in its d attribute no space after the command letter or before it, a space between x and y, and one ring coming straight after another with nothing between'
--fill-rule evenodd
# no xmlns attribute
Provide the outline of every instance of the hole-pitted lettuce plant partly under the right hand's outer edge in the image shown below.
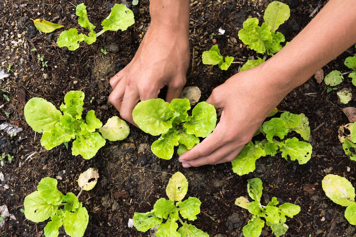
<svg viewBox="0 0 356 237"><path fill-rule="evenodd" d="M297 160L300 165L307 163L312 155L312 145L299 141L295 137L285 139L285 136L292 131L300 134L306 141L310 139L309 121L304 114L284 112L280 118L272 118L264 122L255 136L261 134L265 139L248 142L236 159L231 161L232 170L239 175L253 172L258 158L266 155L274 156L278 149L286 160L289 156L290 160ZM274 139L275 137L280 141Z"/></svg>

